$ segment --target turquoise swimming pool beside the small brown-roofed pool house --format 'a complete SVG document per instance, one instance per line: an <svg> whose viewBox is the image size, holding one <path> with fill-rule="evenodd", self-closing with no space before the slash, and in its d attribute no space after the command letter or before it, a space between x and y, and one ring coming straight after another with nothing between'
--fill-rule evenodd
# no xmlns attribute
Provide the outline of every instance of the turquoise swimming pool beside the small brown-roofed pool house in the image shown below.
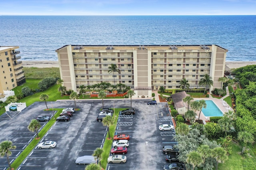
<svg viewBox="0 0 256 170"><path fill-rule="evenodd" d="M206 100L205 102L207 106L202 109L204 116L223 116L222 111L214 102L212 102L212 100Z"/></svg>

